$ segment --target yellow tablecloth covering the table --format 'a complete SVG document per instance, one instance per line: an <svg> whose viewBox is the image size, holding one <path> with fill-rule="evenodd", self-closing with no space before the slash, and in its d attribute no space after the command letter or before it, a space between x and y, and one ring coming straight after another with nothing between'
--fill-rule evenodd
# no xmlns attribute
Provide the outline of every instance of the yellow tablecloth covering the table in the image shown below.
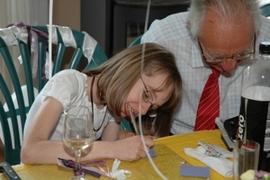
<svg viewBox="0 0 270 180"><path fill-rule="evenodd" d="M156 139L155 151L157 157L153 157L157 168L166 176L167 179L181 180L205 180L205 178L184 177L180 176L181 163L187 162L191 166L205 166L199 160L188 157L184 154L183 148L196 148L198 141L203 140L212 144L226 148L220 139L220 130L202 130L184 135L175 135L165 138ZM108 160L110 168L112 159ZM40 165L40 166L14 166L15 171L24 180L31 179L68 179L73 172L57 165ZM122 161L119 169L130 170L132 175L127 180L141 179L162 179L157 175L148 161L148 158L141 158L133 162ZM85 175L88 179L98 179L90 175ZM6 179L0 175L0 180ZM100 180L109 180L109 177L102 176ZM224 178L211 169L211 180L232 180Z"/></svg>

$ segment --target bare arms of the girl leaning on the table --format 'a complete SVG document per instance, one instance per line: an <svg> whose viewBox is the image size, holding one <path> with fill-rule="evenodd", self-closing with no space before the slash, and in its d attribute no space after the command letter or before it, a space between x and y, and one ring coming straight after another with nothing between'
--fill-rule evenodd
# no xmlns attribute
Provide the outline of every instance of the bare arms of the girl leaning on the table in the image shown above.
<svg viewBox="0 0 270 180"><path fill-rule="evenodd" d="M56 164L58 157L74 159L74 151L67 148L62 140L49 140L50 132L58 123L62 111L61 103L53 97L48 97L40 105L23 139L21 154L23 164ZM115 139L119 129L119 124L110 122L104 131L103 139ZM152 137L144 139L148 149L154 145ZM146 152L139 136L116 141L97 140L82 153L82 161L98 158L132 161L140 157L146 157Z"/></svg>

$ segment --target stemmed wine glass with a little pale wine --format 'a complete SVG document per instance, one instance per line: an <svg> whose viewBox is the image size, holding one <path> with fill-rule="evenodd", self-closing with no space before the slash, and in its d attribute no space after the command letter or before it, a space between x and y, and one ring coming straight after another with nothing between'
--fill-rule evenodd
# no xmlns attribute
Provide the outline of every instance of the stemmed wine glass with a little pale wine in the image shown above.
<svg viewBox="0 0 270 180"><path fill-rule="evenodd" d="M75 150L76 167L70 180L84 180L81 168L81 151L93 141L93 118L85 106L68 107L64 110L63 141L68 148Z"/></svg>

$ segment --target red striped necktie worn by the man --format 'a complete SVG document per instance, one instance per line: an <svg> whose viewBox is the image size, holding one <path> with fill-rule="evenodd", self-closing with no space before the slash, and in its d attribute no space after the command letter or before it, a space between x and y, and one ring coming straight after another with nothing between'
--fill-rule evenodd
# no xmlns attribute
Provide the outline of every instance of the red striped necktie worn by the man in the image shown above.
<svg viewBox="0 0 270 180"><path fill-rule="evenodd" d="M198 105L195 131L215 129L215 119L220 116L220 72L214 68L211 71Z"/></svg>

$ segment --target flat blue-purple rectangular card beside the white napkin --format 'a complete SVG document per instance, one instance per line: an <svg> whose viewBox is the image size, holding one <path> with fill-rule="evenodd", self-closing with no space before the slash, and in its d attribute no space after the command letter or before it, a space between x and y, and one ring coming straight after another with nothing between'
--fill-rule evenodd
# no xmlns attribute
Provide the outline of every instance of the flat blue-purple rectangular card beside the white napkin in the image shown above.
<svg viewBox="0 0 270 180"><path fill-rule="evenodd" d="M209 166L186 166L182 165L180 169L180 175L193 176L193 177L210 177Z"/></svg>

